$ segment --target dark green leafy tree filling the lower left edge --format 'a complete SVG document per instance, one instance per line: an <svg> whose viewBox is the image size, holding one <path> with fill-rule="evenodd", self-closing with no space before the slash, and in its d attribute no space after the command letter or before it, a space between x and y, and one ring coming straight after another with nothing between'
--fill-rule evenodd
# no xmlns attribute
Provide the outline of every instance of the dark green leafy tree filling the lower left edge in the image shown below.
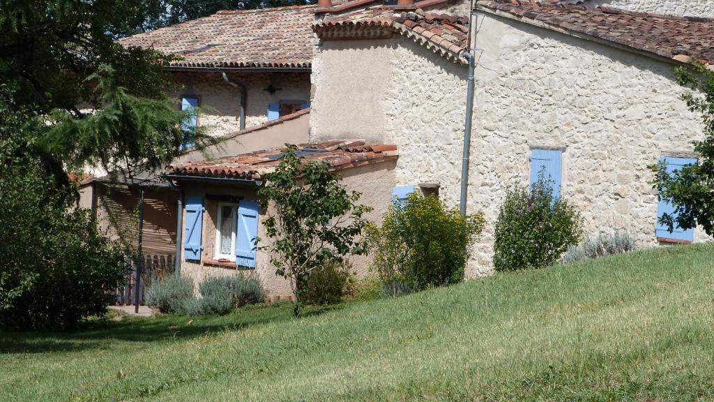
<svg viewBox="0 0 714 402"><path fill-rule="evenodd" d="M39 160L19 152L18 139L41 124L11 103L0 86L0 328L72 328L106 311L128 255L89 211L68 210Z"/></svg>

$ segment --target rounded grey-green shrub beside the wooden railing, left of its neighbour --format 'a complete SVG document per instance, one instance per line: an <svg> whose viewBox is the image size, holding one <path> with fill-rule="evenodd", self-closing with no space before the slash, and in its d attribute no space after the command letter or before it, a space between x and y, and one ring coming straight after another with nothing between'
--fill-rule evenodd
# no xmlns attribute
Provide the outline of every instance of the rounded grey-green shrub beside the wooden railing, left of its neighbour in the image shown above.
<svg viewBox="0 0 714 402"><path fill-rule="evenodd" d="M166 276L146 288L146 305L159 308L164 314L186 311L186 303L193 297L193 280L185 276Z"/></svg>

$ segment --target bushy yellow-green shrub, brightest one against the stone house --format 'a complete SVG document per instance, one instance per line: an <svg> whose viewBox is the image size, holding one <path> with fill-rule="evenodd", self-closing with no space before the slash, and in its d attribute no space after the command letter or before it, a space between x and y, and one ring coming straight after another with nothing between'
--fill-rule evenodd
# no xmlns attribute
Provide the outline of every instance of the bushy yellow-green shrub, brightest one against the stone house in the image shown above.
<svg viewBox="0 0 714 402"><path fill-rule="evenodd" d="M381 227L368 225L372 268L384 283L401 280L411 290L458 283L483 225L481 214L462 217L436 196L413 192L388 208Z"/></svg>

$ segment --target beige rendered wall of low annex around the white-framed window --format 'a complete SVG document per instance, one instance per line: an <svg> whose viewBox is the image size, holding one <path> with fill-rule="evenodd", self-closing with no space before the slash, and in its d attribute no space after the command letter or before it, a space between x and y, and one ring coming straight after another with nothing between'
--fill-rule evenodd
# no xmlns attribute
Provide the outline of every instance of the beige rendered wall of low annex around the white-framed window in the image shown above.
<svg viewBox="0 0 714 402"><path fill-rule="evenodd" d="M366 217L373 222L381 222L381 216L386 212L386 207L391 202L391 191L394 186L394 170L395 162L382 162L376 165L368 165L364 167L356 167L353 169L341 171L343 177L342 184L348 190L358 190L362 192L360 202L364 205L370 205L374 208ZM276 268L270 263L270 256L267 252L258 251L256 255L255 269L236 269L232 263L221 267L215 263L208 263L206 260L213 260L215 257L216 243L216 220L218 203L220 201L207 200L206 194L210 195L233 195L244 197L246 200L257 200L256 190L251 187L233 187L228 185L207 185L193 184L186 185L187 195L201 195L203 197L204 207L206 212L203 214L203 226L201 229L201 244L203 245L203 253L201 255L202 263L194 263L192 261L182 260L181 272L188 275L196 283L209 276L218 275L238 275L238 273L255 273L260 278L261 283L266 288L268 296L283 296L292 295L292 290L288 281L282 277L276 276ZM262 222L268 213L272 211L260 211L258 222ZM185 213L185 212L184 212ZM185 215L184 215L185 217ZM184 224L186 220L183 220ZM269 244L267 234L262 225L258 227L258 237ZM356 257L351 260L353 268L358 275L366 275L368 272L368 259L365 257Z"/></svg>

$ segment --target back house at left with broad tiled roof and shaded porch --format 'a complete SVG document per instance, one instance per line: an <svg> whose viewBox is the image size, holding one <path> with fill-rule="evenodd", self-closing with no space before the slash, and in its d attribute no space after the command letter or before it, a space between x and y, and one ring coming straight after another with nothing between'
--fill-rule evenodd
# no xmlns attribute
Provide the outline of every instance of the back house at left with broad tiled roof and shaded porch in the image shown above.
<svg viewBox="0 0 714 402"><path fill-rule="evenodd" d="M314 9L220 11L119 40L181 57L167 67L178 84L170 96L177 109L200 109L184 124L221 137L201 151L186 144L174 162L307 142ZM144 252L175 255L178 192L156 173L119 183L106 172L95 173L98 177L81 183L80 204L91 207L113 235L133 238L129 233L136 232L133 214L143 188Z"/></svg>

